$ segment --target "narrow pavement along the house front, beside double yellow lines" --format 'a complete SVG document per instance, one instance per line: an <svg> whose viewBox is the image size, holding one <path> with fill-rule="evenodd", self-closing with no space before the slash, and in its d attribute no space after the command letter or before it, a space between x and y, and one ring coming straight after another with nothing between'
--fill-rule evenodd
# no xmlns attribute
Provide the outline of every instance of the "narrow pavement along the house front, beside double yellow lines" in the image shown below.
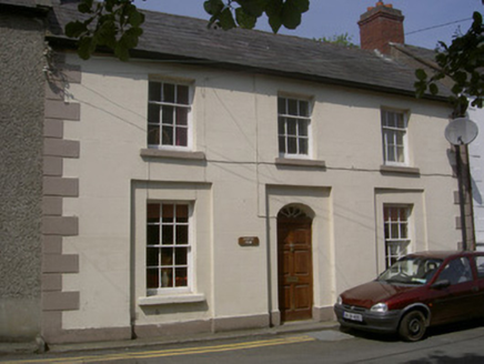
<svg viewBox="0 0 484 364"><path fill-rule="evenodd" d="M149 338L134 338L125 341L111 341L111 342L92 342L92 343L74 343L74 344L51 344L46 347L41 338L37 338L29 343L0 343L0 362L1 355L14 354L32 354L43 353L46 350L49 353L70 353L70 352L92 352L100 350L117 350L127 347L149 347L157 345L173 345L186 343L201 343L220 340L233 340L265 335L282 335L295 333L313 333L317 340L335 341L344 340L344 334L339 332L339 323L330 322L314 322L301 321L292 322L281 326L241 330L219 333L203 333L203 334L184 334L169 337L149 337ZM343 336L341 336L343 335ZM341 336L341 337L340 337Z"/></svg>

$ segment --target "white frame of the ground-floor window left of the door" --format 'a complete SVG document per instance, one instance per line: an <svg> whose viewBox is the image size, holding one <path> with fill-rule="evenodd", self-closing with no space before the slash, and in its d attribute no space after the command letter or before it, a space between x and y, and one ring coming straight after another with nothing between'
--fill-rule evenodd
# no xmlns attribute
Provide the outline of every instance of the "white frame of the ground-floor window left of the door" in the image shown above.
<svg viewBox="0 0 484 364"><path fill-rule="evenodd" d="M147 202L147 209L149 204L158 204L160 206L160 221L158 223L149 223L148 222L148 215L147 215L147 221L145 221L145 226L148 229L148 225L150 224L159 224L160 226L163 225L173 225L174 226L174 232L173 235L175 236L175 226L177 225L188 225L188 234L189 234L189 240L188 240L188 244L183 245L184 247L186 247L186 286L171 286L171 287L158 287L158 289L149 289L148 287L148 281L147 281L147 296L153 296L153 295L170 295L170 294L180 294L180 293L191 293L193 292L193 236L194 236L194 231L193 231L193 226L194 226L194 221L193 221L193 203L192 202L188 202L188 201L148 201ZM188 206L188 222L186 223L177 223L175 221L173 221L173 223L164 223L163 222L163 215L162 215L162 206L163 204L173 204L173 205L186 205ZM174 249L175 246L180 246L177 245L175 242L173 244L162 244L162 228L160 228L160 244L158 245L149 245L148 244L148 234L147 234L147 242L144 244L144 249L145 249L145 254L148 256L148 249L152 247L152 249ZM161 262L159 263L159 269L161 270L162 265ZM145 274L145 279L147 279L147 273L148 273L148 263L145 260L145 266L144 266L144 274ZM177 263L172 262L171 265L165 265L165 267L172 267L175 269L177 267ZM183 267L181 265L179 265L179 267ZM162 281L162 277L160 276L160 282Z"/></svg>

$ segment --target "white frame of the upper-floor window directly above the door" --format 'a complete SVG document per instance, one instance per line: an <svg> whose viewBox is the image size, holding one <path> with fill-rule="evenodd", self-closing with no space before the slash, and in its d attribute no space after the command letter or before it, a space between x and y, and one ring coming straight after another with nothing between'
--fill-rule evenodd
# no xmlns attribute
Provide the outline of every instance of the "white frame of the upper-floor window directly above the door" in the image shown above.
<svg viewBox="0 0 484 364"><path fill-rule="evenodd" d="M283 101L285 103L285 111L289 110L289 101L295 101L296 102L296 113L292 114L289 112L280 112L280 102ZM306 104L307 109L307 115L301 114L301 103L304 102ZM279 156L280 158L292 158L292 159L311 159L312 155L312 122L311 122L311 115L312 115L312 103L307 99L302 98L293 98L288 95L279 95L278 97L278 149L279 149ZM284 120L284 130L281 132L281 121ZM288 120L293 119L296 120L296 124L299 125L300 122L306 123L306 130L307 135L300 134L300 128L296 127L295 134L289 134L288 133ZM296 141L296 149L298 152L295 153L289 153L289 138L294 138ZM281 151L281 140L284 141L284 150ZM307 151L306 153L301 153L301 141L306 140L307 143Z"/></svg>

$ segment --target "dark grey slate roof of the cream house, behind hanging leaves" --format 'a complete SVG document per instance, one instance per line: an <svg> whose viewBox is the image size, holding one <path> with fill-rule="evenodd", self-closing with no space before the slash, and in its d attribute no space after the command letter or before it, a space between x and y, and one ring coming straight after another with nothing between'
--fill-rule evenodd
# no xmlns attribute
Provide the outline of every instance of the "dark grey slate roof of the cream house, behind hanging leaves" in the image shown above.
<svg viewBox="0 0 484 364"><path fill-rule="evenodd" d="M208 29L208 21L145 11L144 33L132 57L185 60L301 80L414 95L414 68L373 51L311 39L234 29ZM75 4L54 6L51 39L79 17ZM442 97L428 97L443 100Z"/></svg>

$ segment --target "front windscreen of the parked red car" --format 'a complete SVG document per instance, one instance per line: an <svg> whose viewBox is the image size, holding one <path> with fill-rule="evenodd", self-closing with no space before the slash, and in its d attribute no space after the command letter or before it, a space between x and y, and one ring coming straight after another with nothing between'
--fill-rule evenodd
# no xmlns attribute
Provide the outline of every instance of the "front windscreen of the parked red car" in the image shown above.
<svg viewBox="0 0 484 364"><path fill-rule="evenodd" d="M383 272L377 281L387 283L423 285L434 276L442 260L403 257Z"/></svg>

